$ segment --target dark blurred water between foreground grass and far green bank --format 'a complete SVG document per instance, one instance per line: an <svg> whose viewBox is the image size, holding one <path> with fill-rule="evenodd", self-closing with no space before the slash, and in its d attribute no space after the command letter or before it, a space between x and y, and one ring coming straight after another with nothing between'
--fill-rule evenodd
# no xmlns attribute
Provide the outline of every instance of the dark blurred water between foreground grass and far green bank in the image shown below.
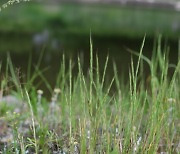
<svg viewBox="0 0 180 154"><path fill-rule="evenodd" d="M22 39L23 38L23 39ZM68 39L67 39L68 38ZM62 62L62 56L65 55L66 65L68 67L69 59L73 61L73 74L77 74L77 57L81 59L83 65L83 71L85 75L88 75L89 69L89 36L68 36L61 39L48 39L48 31L43 33L37 33L35 35L1 35L0 37L0 60L3 61L5 66L7 52L9 51L13 65L16 70L20 71L22 76L27 77L28 59L32 56L32 66L38 63L38 59L42 51L44 51L41 69L48 68L44 75L48 82L53 87L56 81L56 75L58 74L60 63ZM109 57L109 64L107 67L107 76L113 77L113 63L118 68L118 74L121 76L128 76L131 58L133 57L134 63L137 61L136 56L132 56L127 51L127 48L134 51L139 51L142 43L142 39L127 39L120 37L98 37L92 36L93 40L93 56L96 60L96 56L99 57L100 73L103 73L106 57ZM162 46L166 41L162 41ZM152 55L154 40L147 38L143 54L148 58ZM168 41L170 46L170 63L177 63L178 59L178 43L176 41ZM148 65L145 65L146 72L148 74ZM32 71L34 67L32 67ZM1 73L3 74L3 72ZM147 75L148 76L148 75ZM128 78L125 78L128 80ZM36 82L42 81L41 79ZM44 87L44 83L40 84L40 87Z"/></svg>

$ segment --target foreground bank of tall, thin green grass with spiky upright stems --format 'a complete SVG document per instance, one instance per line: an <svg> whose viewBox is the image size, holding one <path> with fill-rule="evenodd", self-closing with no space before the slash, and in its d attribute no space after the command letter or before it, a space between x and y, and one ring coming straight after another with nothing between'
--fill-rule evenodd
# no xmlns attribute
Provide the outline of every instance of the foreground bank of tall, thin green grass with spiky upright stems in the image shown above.
<svg viewBox="0 0 180 154"><path fill-rule="evenodd" d="M54 90L43 76L44 70L39 70L41 56L33 74L30 60L27 81L22 81L8 56L1 90L16 96L21 103L17 102L18 113L14 111L17 104L1 106L1 123L8 125L4 134L0 132L1 139L2 134L11 133L9 140L1 140L1 151L179 153L180 61L177 65L168 63L168 51L162 52L160 40L152 58L144 57L143 41L140 52L130 51L139 58L136 66L132 60L129 82L121 81L115 65L114 77L107 81L108 57L100 74L98 57L93 57L90 44L88 75L83 74L80 59L77 76L72 75L73 62L70 60L66 68L63 60ZM144 63L150 68L148 79ZM169 70L173 70L172 76L168 75ZM51 100L41 90L37 92L38 85L33 84L37 76L52 92ZM12 86L14 90L8 90Z"/></svg>

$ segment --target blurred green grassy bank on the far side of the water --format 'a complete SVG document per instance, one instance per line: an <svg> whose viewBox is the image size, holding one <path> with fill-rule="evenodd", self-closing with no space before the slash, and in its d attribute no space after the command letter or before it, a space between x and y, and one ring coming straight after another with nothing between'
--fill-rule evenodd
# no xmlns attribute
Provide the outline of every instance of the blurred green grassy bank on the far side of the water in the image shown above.
<svg viewBox="0 0 180 154"><path fill-rule="evenodd" d="M179 12L117 5L21 3L3 9L0 23L1 33L32 34L49 29L61 38L63 34L89 35L89 29L94 35L108 37L141 38L146 33L153 38L155 33L163 33L177 39L180 34Z"/></svg>

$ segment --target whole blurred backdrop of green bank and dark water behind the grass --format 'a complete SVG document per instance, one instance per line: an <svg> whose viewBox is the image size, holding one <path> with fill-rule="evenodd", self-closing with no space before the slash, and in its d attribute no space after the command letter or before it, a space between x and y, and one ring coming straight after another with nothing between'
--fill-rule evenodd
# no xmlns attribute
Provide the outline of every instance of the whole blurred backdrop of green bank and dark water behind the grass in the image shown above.
<svg viewBox="0 0 180 154"><path fill-rule="evenodd" d="M2 6L5 0L0 1ZM28 59L36 64L44 52L42 68L51 84L58 73L62 55L66 60L81 58L89 66L89 40L100 67L109 55L108 74L116 63L119 73L128 74L131 54L139 51L151 57L162 35L162 47L169 47L170 62L178 59L180 1L178 0L39 0L8 6L0 12L0 60L10 53L15 67L27 70ZM135 59L135 58L134 58ZM32 68L33 69L33 68Z"/></svg>

